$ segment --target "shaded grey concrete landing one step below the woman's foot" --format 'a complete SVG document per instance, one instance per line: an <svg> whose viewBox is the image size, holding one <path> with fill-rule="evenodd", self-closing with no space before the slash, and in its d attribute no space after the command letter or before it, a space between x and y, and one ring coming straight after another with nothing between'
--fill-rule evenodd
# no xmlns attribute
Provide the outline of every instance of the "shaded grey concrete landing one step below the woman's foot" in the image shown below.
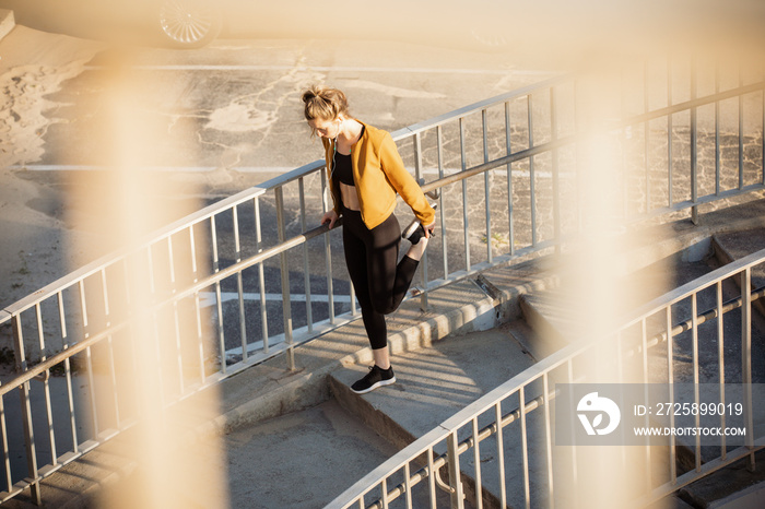
<svg viewBox="0 0 765 509"><path fill-rule="evenodd" d="M235 430L225 445L231 507L269 509L322 507L397 451L333 400Z"/></svg>

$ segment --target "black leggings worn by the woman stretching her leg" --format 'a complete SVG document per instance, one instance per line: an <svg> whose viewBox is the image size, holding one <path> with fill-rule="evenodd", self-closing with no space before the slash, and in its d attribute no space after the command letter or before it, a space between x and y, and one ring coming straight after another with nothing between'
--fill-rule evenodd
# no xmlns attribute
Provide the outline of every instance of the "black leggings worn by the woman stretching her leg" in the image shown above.
<svg viewBox="0 0 765 509"><path fill-rule="evenodd" d="M374 350L388 345L385 315L398 309L420 262L403 257L396 264L401 227L393 214L368 229L362 214L343 208L343 247L364 329Z"/></svg>

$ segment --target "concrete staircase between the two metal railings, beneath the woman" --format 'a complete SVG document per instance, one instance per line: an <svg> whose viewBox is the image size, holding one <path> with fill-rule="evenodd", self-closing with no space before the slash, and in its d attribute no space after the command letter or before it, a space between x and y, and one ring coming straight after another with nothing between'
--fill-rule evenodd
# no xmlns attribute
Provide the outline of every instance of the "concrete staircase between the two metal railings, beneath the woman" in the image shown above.
<svg viewBox="0 0 765 509"><path fill-rule="evenodd" d="M650 277L669 283L649 285L649 291L635 296L634 305L765 247L765 201L743 211L703 216L698 226L688 222L663 226L652 238L650 246L635 246L624 254L625 269L631 269L624 271L625 281ZM209 447L221 448L226 459L222 467L227 470L231 507L323 507L397 450L564 346L570 315L561 304L561 280L551 260L541 258L484 271L433 292L427 312L419 300L405 301L388 321L398 381L361 396L349 386L366 372L372 355L357 320L298 348L295 371L285 370L284 359L276 358L224 381L220 415L204 429L189 430L189 437L196 437L192 441L222 437ZM754 335L762 345L762 329ZM678 357L682 362L683 356ZM178 412L192 409L190 399ZM531 433L529 440L530 450L541 448L541 437ZM497 457L491 442L481 442L486 471L493 471L491 463ZM116 478L130 475L130 469L114 461L119 458L119 442L114 443L89 453L84 466L69 465L46 481L44 499L51 507L89 507L103 483L98 481L103 472L83 474L93 464L111 465L108 470ZM519 454L506 452L510 507L522 507L522 473L519 461L514 461ZM544 469L539 463L530 465L532 474ZM466 454L462 467L463 478L470 480L472 454ZM735 507L730 497L752 493L756 497L758 480L762 472L725 469L704 480L703 486L698 483L670 497L664 507ZM473 500L467 484L468 500ZM496 507L498 480L483 478L482 484L484 506ZM544 500L544 493L539 493L543 490L532 486L532 499ZM439 496L448 505L448 495ZM32 506L21 496L7 507Z"/></svg>

